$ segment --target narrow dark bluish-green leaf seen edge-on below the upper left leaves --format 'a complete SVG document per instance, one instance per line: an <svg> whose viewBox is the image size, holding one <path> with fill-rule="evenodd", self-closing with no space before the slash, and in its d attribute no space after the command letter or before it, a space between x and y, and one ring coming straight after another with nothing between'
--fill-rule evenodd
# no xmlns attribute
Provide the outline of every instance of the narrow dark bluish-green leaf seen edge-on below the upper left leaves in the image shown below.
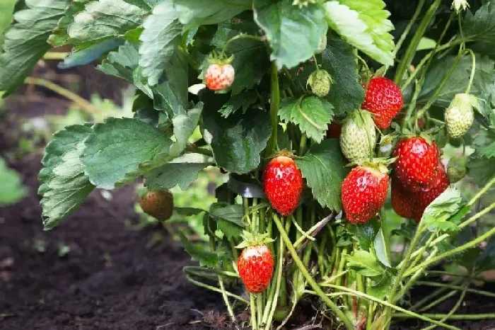
<svg viewBox="0 0 495 330"><path fill-rule="evenodd" d="M124 40L122 39L105 40L88 48L84 48L83 50L79 50L69 54L66 58L64 58L64 62L60 62L57 67L59 69L69 69L78 65L90 64L95 59L99 59L100 56L102 56L106 52L115 50L123 43Z"/></svg>

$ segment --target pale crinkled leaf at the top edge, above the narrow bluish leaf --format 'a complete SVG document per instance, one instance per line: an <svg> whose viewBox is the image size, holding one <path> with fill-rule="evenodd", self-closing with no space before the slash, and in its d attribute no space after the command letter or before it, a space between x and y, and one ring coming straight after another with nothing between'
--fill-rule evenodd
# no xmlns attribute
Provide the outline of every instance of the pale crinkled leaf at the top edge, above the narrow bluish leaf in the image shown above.
<svg viewBox="0 0 495 330"><path fill-rule="evenodd" d="M105 38L123 37L128 30L141 25L145 13L123 0L92 1L74 16L74 23L67 30L69 41L74 45L87 45Z"/></svg>

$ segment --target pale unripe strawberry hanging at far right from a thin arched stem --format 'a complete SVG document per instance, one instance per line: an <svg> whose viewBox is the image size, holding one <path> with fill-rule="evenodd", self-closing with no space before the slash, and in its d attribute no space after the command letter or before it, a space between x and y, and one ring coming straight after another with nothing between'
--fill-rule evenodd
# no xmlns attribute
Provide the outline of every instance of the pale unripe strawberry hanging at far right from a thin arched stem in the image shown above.
<svg viewBox="0 0 495 330"><path fill-rule="evenodd" d="M462 137L470 129L474 121L474 102L477 102L477 99L470 94L455 94L450 106L445 110L445 127L453 139Z"/></svg>

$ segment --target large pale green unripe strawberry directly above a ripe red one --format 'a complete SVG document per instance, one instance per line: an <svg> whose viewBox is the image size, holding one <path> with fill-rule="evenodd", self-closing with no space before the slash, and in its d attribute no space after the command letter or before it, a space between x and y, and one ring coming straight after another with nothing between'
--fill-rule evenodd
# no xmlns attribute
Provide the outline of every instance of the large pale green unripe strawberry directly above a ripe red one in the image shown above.
<svg viewBox="0 0 495 330"><path fill-rule="evenodd" d="M340 134L342 154L351 162L370 159L375 147L376 132L373 118L367 111L355 110L344 121ZM371 142L371 147L370 147Z"/></svg>

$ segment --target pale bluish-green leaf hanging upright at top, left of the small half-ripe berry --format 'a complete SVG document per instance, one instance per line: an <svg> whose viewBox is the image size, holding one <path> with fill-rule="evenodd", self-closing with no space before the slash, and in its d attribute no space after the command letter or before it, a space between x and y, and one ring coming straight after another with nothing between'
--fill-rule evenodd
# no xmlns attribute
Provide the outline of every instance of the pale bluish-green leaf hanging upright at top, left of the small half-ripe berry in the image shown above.
<svg viewBox="0 0 495 330"><path fill-rule="evenodd" d="M143 67L143 75L148 77L148 84L151 86L158 84L165 65L172 59L179 45L181 33L182 25L172 0L161 1L144 21L139 65Z"/></svg>

